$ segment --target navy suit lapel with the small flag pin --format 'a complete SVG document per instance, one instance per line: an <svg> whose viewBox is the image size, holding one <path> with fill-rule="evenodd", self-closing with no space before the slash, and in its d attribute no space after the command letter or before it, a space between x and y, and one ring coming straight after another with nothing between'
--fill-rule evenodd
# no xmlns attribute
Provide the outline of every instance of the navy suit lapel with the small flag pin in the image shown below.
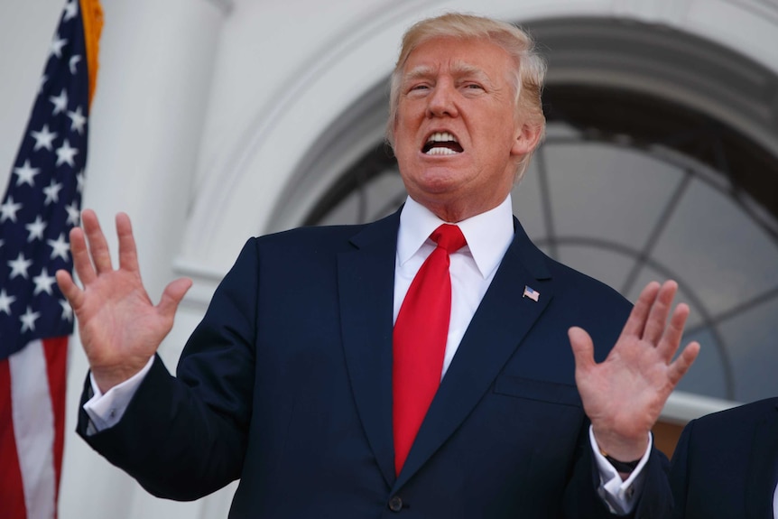
<svg viewBox="0 0 778 519"><path fill-rule="evenodd" d="M542 253L514 220L514 241L462 338L421 424L395 489L402 487L449 438L494 382L553 296ZM541 293L523 297L525 285Z"/></svg>

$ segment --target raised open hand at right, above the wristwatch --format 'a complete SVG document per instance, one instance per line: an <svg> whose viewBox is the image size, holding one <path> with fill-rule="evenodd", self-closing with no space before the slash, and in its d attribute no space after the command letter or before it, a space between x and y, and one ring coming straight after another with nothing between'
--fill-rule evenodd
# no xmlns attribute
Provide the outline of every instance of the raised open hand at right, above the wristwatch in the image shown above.
<svg viewBox="0 0 778 519"><path fill-rule="evenodd" d="M662 407L699 353L691 342L673 360L681 344L689 307L670 315L677 283L649 283L605 361L597 364L588 333L573 327L570 345L576 360L576 385L600 449L621 461L643 456L648 434Z"/></svg>

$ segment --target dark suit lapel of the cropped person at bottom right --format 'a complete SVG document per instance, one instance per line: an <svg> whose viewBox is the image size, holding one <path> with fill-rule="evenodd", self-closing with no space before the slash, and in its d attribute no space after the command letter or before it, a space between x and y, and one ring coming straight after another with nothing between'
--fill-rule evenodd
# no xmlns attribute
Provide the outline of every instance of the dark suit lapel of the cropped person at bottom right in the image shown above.
<svg viewBox="0 0 778 519"><path fill-rule="evenodd" d="M778 399L773 399L756 424L746 477L746 517L773 517L773 493L778 485Z"/></svg>

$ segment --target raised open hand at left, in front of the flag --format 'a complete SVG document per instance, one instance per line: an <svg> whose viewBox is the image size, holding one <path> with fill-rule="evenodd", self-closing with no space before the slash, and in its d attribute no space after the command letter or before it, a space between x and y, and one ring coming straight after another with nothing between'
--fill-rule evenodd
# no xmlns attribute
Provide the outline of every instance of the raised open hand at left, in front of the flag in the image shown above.
<svg viewBox="0 0 778 519"><path fill-rule="evenodd" d="M83 230L70 231L70 250L83 289L64 270L57 272L57 283L76 313L89 367L105 393L140 371L153 356L170 332L191 281L181 278L168 284L154 306L141 281L130 218L124 213L116 215L116 270L97 215L84 210L81 220Z"/></svg>

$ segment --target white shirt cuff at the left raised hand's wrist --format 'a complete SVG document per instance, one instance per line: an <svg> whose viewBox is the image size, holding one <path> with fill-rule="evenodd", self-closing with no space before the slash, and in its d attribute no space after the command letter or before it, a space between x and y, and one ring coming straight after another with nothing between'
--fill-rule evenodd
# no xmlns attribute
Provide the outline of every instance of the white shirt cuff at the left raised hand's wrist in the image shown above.
<svg viewBox="0 0 778 519"><path fill-rule="evenodd" d="M103 394L100 388L97 387L94 375L89 374L93 395L87 403L84 403L84 411L87 412L89 417L88 436L99 431L105 431L122 419L138 386L144 381L144 377L152 368L153 363L154 357L149 358L143 369L123 383L109 389L106 394Z"/></svg>

